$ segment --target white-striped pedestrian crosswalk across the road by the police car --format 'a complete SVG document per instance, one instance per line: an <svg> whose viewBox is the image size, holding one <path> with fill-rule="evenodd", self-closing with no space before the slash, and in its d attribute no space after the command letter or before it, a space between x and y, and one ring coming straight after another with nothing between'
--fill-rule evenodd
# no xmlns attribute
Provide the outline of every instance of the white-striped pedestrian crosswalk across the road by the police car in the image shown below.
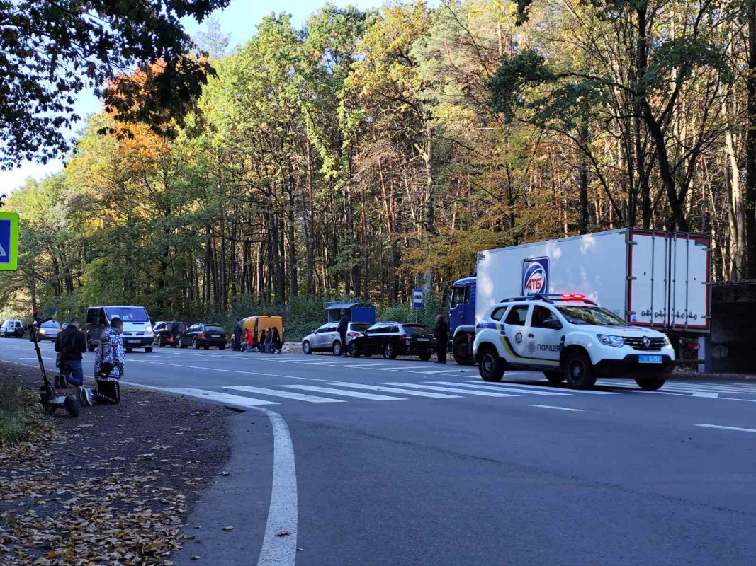
<svg viewBox="0 0 756 566"><path fill-rule="evenodd" d="M216 391L196 387L172 387L166 390L179 395L215 401L236 408L252 408L259 405L280 405L285 401L302 403L349 403L355 401L404 401L409 399L447 400L464 398L544 398L569 397L576 399L601 398L604 395L643 393L657 395L685 395L697 398L730 399L756 403L756 384L717 384L694 382L671 382L659 391L643 391L633 380L600 380L598 389L573 390L564 384L553 385L547 381L529 380L486 383L481 380L423 380L386 381L381 383L352 383L348 381L322 380L319 385L302 383L275 383L262 386L222 386ZM546 401L544 399L544 401ZM546 405L531 405L546 406ZM549 405L550 406L550 405Z"/></svg>

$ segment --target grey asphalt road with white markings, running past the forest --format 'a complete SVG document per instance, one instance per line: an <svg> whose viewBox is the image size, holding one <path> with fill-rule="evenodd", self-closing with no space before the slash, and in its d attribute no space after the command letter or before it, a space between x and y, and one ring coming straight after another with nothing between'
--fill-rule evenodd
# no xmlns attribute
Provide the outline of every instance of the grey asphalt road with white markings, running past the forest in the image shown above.
<svg viewBox="0 0 756 566"><path fill-rule="evenodd" d="M0 340L0 358L35 363L28 340ZM756 563L756 383L577 392L533 373L491 384L454 364L215 349L133 352L125 372L248 409L228 489L195 518L241 522L206 540L206 564L257 564L271 468L274 492L296 492L281 539L298 566ZM256 408L288 426L296 486Z"/></svg>

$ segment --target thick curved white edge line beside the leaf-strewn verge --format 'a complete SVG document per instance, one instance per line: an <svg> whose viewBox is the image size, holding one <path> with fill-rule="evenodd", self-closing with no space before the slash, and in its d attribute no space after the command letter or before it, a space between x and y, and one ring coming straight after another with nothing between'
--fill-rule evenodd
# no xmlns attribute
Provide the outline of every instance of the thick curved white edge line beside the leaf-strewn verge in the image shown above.
<svg viewBox="0 0 756 566"><path fill-rule="evenodd" d="M265 537L262 540L258 566L294 566L296 561L296 467L294 446L289 427L280 414L257 409L268 415L273 428L273 483ZM285 534L284 534L285 533Z"/></svg>

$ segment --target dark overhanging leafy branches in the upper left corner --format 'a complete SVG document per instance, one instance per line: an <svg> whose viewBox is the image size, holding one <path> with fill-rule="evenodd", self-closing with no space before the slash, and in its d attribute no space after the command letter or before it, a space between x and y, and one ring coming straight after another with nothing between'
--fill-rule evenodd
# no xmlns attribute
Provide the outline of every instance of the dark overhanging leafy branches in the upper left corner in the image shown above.
<svg viewBox="0 0 756 566"><path fill-rule="evenodd" d="M128 122L179 122L212 67L187 57L180 18L203 20L228 0L0 0L0 168L45 162L69 149L64 128L79 119L76 94L94 88ZM132 72L160 62L152 85ZM109 87L109 88L108 88ZM136 104L138 102L138 105Z"/></svg>

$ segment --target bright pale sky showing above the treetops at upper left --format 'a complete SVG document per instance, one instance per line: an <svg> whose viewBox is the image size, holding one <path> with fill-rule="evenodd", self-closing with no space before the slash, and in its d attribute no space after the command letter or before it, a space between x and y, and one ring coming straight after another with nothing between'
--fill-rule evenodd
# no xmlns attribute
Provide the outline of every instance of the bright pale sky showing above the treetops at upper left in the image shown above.
<svg viewBox="0 0 756 566"><path fill-rule="evenodd" d="M331 0L332 4L339 7L354 5L363 10L377 8L383 4L382 0ZM293 24L302 26L307 17L325 4L325 0L231 0L228 8L215 11L212 15L221 23L222 32L231 34L230 48L243 45L256 31L256 26L271 12L287 12L292 15ZM203 24L191 18L184 19L184 28L190 35L206 29ZM91 91L82 91L76 100L76 113L85 118L100 110L100 101ZM78 122L74 129L75 134L85 126L85 119ZM26 161L19 168L11 171L0 171L0 194L9 193L13 189L23 185L28 177L36 179L55 173L63 168L63 161L49 161L46 165Z"/></svg>

